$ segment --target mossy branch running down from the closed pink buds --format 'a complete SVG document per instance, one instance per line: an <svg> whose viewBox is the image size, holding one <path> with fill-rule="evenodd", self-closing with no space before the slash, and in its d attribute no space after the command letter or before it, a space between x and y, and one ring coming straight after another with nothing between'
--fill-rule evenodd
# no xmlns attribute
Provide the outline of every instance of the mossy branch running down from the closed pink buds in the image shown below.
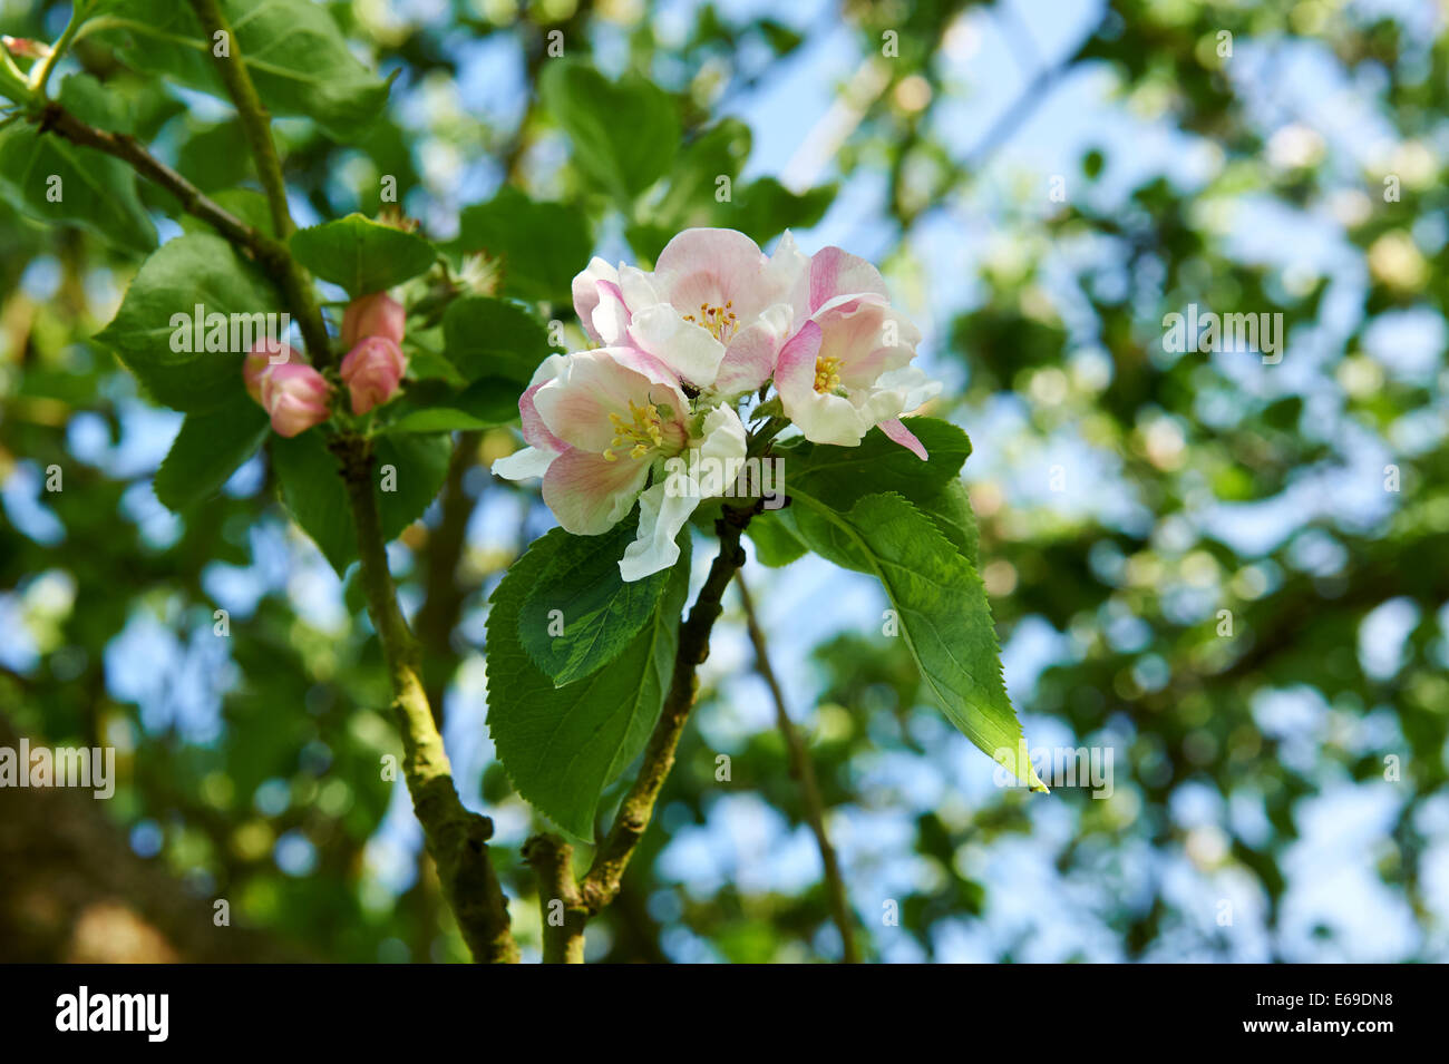
<svg viewBox="0 0 1449 1064"><path fill-rule="evenodd" d="M335 437L332 452L358 531L362 589L393 683L393 712L403 732L403 774L423 825L427 853L438 866L443 895L478 961L516 963L519 947L509 931L509 902L488 858L493 821L464 808L433 711L423 693L419 649L397 605L387 569L387 549L377 514L374 456L361 437Z"/></svg>

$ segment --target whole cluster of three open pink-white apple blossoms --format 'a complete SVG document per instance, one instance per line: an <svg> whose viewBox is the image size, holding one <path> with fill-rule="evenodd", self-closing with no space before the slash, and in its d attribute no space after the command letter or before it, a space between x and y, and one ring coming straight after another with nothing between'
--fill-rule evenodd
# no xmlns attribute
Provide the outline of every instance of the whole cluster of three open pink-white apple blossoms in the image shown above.
<svg viewBox="0 0 1449 1064"><path fill-rule="evenodd" d="M639 499L626 580L678 560L675 536L707 494L668 489L665 463L694 450L743 460L739 405L771 381L807 440L855 446L878 426L926 457L900 420L940 388L911 365L920 332L875 266L839 248L807 258L785 233L767 256L733 229L688 229L652 274L593 259L574 308L600 346L539 366L519 400L527 446L493 472L542 476L543 501L578 536L607 531Z"/></svg>

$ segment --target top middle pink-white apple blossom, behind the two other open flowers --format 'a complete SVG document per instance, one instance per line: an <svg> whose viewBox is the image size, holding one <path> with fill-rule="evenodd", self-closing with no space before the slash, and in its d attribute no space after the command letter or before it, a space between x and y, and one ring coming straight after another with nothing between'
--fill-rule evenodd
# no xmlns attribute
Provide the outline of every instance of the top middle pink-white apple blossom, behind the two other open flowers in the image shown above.
<svg viewBox="0 0 1449 1064"><path fill-rule="evenodd" d="M733 229L687 229L652 274L590 261L574 278L574 308L594 342L636 346L684 382L742 395L774 369L806 265L788 233L767 256Z"/></svg>

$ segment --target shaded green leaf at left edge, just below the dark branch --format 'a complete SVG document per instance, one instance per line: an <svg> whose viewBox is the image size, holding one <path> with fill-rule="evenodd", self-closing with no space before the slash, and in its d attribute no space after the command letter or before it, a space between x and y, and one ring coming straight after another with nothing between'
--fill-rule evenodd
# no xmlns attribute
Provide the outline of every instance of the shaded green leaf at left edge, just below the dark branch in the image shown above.
<svg viewBox="0 0 1449 1064"><path fill-rule="evenodd" d="M28 123L0 132L0 193L28 217L83 226L122 250L156 246L126 164Z"/></svg>

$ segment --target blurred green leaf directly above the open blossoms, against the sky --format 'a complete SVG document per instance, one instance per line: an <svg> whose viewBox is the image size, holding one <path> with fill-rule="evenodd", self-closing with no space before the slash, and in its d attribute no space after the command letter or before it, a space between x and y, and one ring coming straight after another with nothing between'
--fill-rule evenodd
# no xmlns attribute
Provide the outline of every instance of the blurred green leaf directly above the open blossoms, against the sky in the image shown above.
<svg viewBox="0 0 1449 1064"><path fill-rule="evenodd" d="M669 171L680 117L668 93L645 78L614 83L578 62L549 62L539 96L572 140L574 165L620 206Z"/></svg>

